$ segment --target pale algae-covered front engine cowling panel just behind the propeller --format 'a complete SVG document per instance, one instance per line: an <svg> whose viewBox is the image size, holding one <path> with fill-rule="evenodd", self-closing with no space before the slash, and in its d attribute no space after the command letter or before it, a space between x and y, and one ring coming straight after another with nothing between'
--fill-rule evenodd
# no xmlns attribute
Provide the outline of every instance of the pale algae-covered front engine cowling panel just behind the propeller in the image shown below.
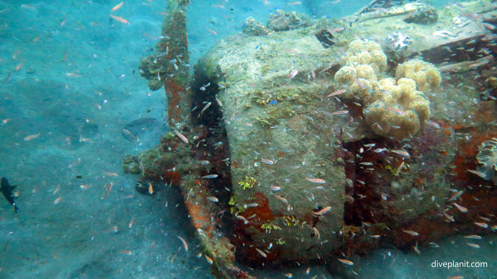
<svg viewBox="0 0 497 279"><path fill-rule="evenodd" d="M341 27L334 24L330 29ZM349 117L333 115L335 102L327 100L339 53L323 47L319 30L229 39L196 68L223 87L218 98L231 150L230 203L240 256L307 261L342 245L334 235L346 185L340 123ZM327 207L326 214L313 213ZM267 243L273 247L263 257L255 248Z"/></svg>

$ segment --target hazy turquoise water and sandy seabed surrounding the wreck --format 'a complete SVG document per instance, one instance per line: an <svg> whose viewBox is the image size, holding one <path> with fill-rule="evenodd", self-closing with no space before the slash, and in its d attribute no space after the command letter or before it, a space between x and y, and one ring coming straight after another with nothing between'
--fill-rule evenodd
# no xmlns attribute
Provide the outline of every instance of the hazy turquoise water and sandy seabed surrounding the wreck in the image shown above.
<svg viewBox="0 0 497 279"><path fill-rule="evenodd" d="M280 8L338 18L368 1L269 2L190 4L190 65L241 32L248 16L265 22ZM150 91L138 72L140 59L159 40L166 1L124 1L111 11L118 3L0 2L0 175L17 185L20 209L15 214L1 198L2 279L214 278L198 257L179 190L165 186L154 198L141 195L134 189L138 178L122 171L125 155L155 146L169 131L163 89ZM420 255L383 248L364 255L357 278L496 278L497 237L478 241L475 249L456 235L437 242L438 248L423 247ZM429 268L435 260L489 267ZM257 278L339 278L319 266L310 275L308 266L244 268Z"/></svg>

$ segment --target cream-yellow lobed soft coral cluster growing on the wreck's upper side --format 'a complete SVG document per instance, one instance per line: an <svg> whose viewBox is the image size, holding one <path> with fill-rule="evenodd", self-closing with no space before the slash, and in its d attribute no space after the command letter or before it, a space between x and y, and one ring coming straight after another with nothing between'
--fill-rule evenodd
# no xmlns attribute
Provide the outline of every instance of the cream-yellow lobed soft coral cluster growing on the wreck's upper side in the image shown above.
<svg viewBox="0 0 497 279"><path fill-rule="evenodd" d="M421 91L440 84L440 71L432 64L413 59L397 69L396 78L379 79L386 56L373 41L355 40L349 45L345 66L335 74L340 97L364 106L364 117L378 135L403 139L419 131L430 117L429 100ZM418 91L421 90L421 91Z"/></svg>

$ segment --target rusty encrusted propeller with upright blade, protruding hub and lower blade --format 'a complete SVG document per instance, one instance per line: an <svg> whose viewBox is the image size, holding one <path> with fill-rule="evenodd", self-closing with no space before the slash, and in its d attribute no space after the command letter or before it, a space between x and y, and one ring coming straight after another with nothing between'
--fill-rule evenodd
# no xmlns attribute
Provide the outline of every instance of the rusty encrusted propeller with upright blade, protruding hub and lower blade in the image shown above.
<svg viewBox="0 0 497 279"><path fill-rule="evenodd" d="M194 145L194 135L207 134L201 119L192 120L193 101L190 90L186 8L189 0L168 0L162 36L157 53L142 60L142 75L150 80L152 90L164 81L167 97L168 133L157 150L142 152L136 158L141 180L158 181L177 186L183 195L192 225L196 228L203 253L212 259L215 274L227 279L251 279L235 265L234 246L226 237L216 236L219 224L212 213L217 208L207 197L215 188L200 177L205 168L197 162L204 146ZM202 137L205 140L205 136ZM135 168L136 170L136 168ZM217 208L216 210L220 210Z"/></svg>

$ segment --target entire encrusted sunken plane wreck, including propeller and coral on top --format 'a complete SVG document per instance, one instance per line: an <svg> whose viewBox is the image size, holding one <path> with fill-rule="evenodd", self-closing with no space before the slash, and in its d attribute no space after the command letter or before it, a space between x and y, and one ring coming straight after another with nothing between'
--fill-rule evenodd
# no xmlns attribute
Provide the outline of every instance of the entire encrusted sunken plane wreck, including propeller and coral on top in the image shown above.
<svg viewBox="0 0 497 279"><path fill-rule="evenodd" d="M123 168L180 188L215 274L251 278L239 261L352 275L378 247L497 229L495 3L389 2L248 18L190 78L188 1L168 1L140 70L164 85L171 132Z"/></svg>

